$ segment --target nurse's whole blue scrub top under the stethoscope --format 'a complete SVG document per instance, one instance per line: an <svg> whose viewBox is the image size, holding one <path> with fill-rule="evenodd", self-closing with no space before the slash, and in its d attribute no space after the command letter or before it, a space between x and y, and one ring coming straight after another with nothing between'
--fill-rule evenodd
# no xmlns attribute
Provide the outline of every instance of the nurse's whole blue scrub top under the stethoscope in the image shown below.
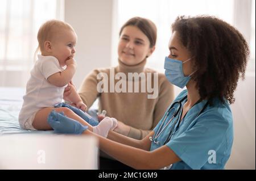
<svg viewBox="0 0 256 181"><path fill-rule="evenodd" d="M182 91L174 102L181 100L185 95L187 95L187 90ZM185 102L187 99L183 101L182 105ZM173 128L172 133L174 134L166 145L175 152L181 161L174 163L171 169L224 169L233 144L232 112L227 101L222 103L220 100L214 99L213 106L207 106L204 112L197 116L205 103L207 100L193 106L187 112L184 120L180 122L179 128L176 129L179 122L176 119L179 120L180 111L176 119L172 120L157 138L160 144L151 143L150 150L163 146L171 128ZM175 104L175 107L178 107L178 104ZM173 112L174 109L167 117L163 127L171 119ZM154 128L155 134L166 114L167 111ZM173 125L174 127L172 127ZM155 138L155 134L153 138Z"/></svg>

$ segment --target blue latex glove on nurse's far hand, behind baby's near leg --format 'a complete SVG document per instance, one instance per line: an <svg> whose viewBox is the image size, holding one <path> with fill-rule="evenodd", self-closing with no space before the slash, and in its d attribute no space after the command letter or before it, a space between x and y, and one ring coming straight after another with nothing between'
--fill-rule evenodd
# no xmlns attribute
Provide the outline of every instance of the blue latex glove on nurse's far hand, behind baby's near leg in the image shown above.
<svg viewBox="0 0 256 181"><path fill-rule="evenodd" d="M60 104L57 104L57 106L55 106L55 107L67 107L70 110L72 110L73 112L75 112L77 115L79 115L82 119L84 119L87 123L89 123L93 127L98 125L98 121L94 120L90 115L88 115L88 113L80 110L79 108L71 106L67 103L60 103Z"/></svg>

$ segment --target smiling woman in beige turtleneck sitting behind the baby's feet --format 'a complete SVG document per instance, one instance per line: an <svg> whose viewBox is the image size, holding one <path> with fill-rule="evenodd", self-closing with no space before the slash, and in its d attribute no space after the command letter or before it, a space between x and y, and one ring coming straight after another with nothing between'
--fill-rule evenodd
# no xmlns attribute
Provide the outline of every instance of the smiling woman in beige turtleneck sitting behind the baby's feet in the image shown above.
<svg viewBox="0 0 256 181"><path fill-rule="evenodd" d="M80 97L88 107L99 98L99 111L106 110L106 116L115 117L118 120L116 132L138 140L152 131L163 116L168 104L174 100L173 87L164 74L158 73L158 85L154 85L156 71L145 68L147 57L151 56L155 50L155 43L156 26L151 20L140 17L129 19L119 32L118 66L93 70L84 79L79 90ZM107 75L108 82L112 81L111 73L114 73L113 77L124 73L125 91L117 92L115 89L110 91L110 86L117 86L119 79L115 79L114 84L109 83L107 92L99 92L97 85L102 80L97 79L97 75L103 73ZM145 75L145 79L129 79L129 73ZM151 77L147 77L148 75ZM152 92L148 92L147 89L145 92L141 91L147 88L142 87L141 81L146 81L148 78L152 82L151 86L157 86L158 95L153 99L148 98ZM138 83L139 92L128 92L129 83L133 86Z"/></svg>

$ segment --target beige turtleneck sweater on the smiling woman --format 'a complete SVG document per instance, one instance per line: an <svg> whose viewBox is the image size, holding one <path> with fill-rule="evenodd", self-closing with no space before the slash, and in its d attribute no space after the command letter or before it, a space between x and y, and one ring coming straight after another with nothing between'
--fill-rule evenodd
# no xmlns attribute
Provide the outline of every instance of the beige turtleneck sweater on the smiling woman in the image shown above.
<svg viewBox="0 0 256 181"><path fill-rule="evenodd" d="M147 91L147 86L146 92L141 91L141 81L147 82L147 74L145 74L145 79L139 78L137 82L139 85L139 92L134 92L136 82L134 79L130 80L127 73L139 74L156 72L152 69L144 68L145 64L146 60L134 66L128 66L119 61L119 65L112 68L111 71L110 68L93 70L85 77L79 90L79 95L88 108L92 106L94 100L100 98L99 111L106 110L106 116L115 117L118 121L122 121L126 125L129 125L130 132L128 136L138 140L146 137L147 134L151 132L162 118L172 100L174 100L174 88L162 73L158 73L158 85L155 85L156 89L158 89L158 96L156 96L155 99L148 99L148 95L152 95L153 93ZM113 81L114 85L120 81L119 79L114 79L114 77L110 76L110 73L113 71L114 75L121 72L125 73L126 79L123 81L126 83L126 92L116 92L115 90L113 92L114 87L112 92L110 92L110 81ZM99 73L108 75L108 92L100 93L97 91L97 84L102 81L102 79L97 79ZM128 92L128 85L131 81L133 83L133 91ZM151 74L151 87L153 86L154 78L153 74Z"/></svg>

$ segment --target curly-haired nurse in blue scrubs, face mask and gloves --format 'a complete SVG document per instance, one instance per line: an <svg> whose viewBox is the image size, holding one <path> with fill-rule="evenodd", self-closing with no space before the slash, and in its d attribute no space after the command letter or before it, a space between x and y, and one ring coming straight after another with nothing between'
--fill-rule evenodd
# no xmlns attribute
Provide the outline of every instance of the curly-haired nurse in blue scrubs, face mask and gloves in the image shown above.
<svg viewBox="0 0 256 181"><path fill-rule="evenodd" d="M100 149L134 169L224 169L233 143L229 105L244 77L249 48L240 32L212 16L179 16L172 24L166 77L182 91L143 140L110 131L98 136L77 121L49 124L55 132L98 137ZM72 126L70 126L72 125Z"/></svg>

